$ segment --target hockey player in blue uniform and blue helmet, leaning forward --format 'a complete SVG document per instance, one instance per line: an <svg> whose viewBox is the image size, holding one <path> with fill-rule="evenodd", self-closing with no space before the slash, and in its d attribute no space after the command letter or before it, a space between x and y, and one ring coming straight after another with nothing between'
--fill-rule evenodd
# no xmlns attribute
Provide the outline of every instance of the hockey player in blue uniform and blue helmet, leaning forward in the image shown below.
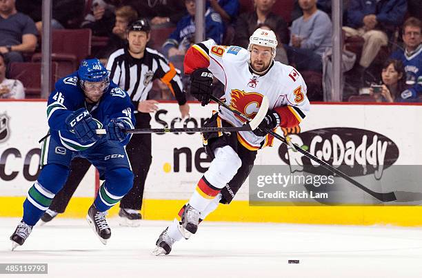
<svg viewBox="0 0 422 278"><path fill-rule="evenodd" d="M81 63L77 72L57 81L48 98L50 136L42 141L41 172L23 202L23 219L13 235L12 250L28 238L69 174L74 157L88 159L105 179L88 209L87 220L103 244L111 236L107 211L132 188L133 174L124 146L125 129L134 127L128 94L110 82L98 59ZM106 135L97 135L97 129Z"/></svg>

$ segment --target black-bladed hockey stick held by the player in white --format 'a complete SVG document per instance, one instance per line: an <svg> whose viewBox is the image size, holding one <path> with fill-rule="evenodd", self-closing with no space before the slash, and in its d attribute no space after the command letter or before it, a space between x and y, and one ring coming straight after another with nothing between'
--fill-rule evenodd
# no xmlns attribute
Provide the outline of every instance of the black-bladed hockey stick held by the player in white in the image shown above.
<svg viewBox="0 0 422 278"><path fill-rule="evenodd" d="M221 101L221 99L218 99L217 97L214 97L214 96L211 96L211 99L213 101L219 103L224 108L230 110L234 114L239 115L241 118L245 119L246 121L251 121L251 119L248 116L244 115L243 113L241 113L237 110L234 110L232 107L228 106L228 104ZM351 177L349 177L345 173L341 172L341 170L334 168L333 166L326 163L325 161L322 161L318 157L315 157L310 152L303 150L297 144L292 143L291 141L288 142L288 140L286 140L284 137L277 134L276 132L274 132L270 129L265 129L263 131L265 131L268 134L274 136L275 138L279 139L281 142L285 143L286 145L288 145L290 147L294 146L294 148L298 152L301 152L301 154L304 155L305 157L308 157L309 159L312 159L316 163L319 163L321 166L323 166L325 169L329 170L330 172L332 172L336 175L339 175L340 177L343 177L343 179L349 181L350 183L352 183L357 188L360 188L361 190L367 192L372 197L379 199L379 201L388 202L388 201L419 201L419 200L421 200L422 193L418 193L418 192L404 192L404 191L394 191L394 192L387 192L387 193L374 192L374 191L370 190L369 188L363 186L363 184L359 183L358 181L355 181L354 179L352 179ZM419 197L416 196L418 194L419 194ZM398 195L399 195L399 200L397 199Z"/></svg>

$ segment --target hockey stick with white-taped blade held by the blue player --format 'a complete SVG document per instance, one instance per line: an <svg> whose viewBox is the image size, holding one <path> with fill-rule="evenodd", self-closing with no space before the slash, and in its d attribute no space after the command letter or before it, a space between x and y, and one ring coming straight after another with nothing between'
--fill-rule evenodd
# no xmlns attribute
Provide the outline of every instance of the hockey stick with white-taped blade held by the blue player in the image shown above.
<svg viewBox="0 0 422 278"><path fill-rule="evenodd" d="M269 101L267 97L263 97L261 107L257 115L244 124L243 126L223 126L221 128L135 128L125 130L125 133L165 133L165 132L237 132L237 131L251 131L259 126L259 123L265 118L268 111ZM96 130L97 135L105 135L105 129Z"/></svg>

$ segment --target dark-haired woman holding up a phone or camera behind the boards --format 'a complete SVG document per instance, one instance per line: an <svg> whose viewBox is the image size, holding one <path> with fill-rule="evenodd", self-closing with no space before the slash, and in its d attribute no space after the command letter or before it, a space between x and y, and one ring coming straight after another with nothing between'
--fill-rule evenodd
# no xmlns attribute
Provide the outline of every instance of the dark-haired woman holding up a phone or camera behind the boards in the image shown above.
<svg viewBox="0 0 422 278"><path fill-rule="evenodd" d="M383 65L381 72L382 85L371 86L370 95L372 95L376 102L403 102L408 101L406 95L408 90L405 90L405 70L403 62L400 60L388 59ZM403 98L403 95L405 96Z"/></svg>

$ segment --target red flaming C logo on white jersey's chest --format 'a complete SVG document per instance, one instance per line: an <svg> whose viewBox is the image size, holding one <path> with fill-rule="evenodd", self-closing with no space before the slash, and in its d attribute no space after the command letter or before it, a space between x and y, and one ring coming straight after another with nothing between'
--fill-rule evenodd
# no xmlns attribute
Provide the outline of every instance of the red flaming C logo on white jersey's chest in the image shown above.
<svg viewBox="0 0 422 278"><path fill-rule="evenodd" d="M245 92L237 89L232 90L230 96L232 97L230 106L250 118L253 118L255 115L257 115L263 98L263 95L257 92ZM237 119L245 122L245 120L238 115L234 114L234 116L236 116Z"/></svg>

